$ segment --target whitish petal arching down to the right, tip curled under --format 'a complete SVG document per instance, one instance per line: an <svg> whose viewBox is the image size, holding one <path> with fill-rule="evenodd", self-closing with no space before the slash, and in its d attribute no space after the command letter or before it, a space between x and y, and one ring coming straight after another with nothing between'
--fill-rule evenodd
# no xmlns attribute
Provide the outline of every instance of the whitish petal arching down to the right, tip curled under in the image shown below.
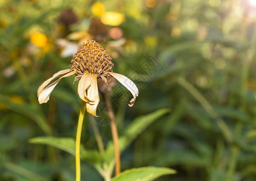
<svg viewBox="0 0 256 181"><path fill-rule="evenodd" d="M128 77L121 75L121 74L117 74L114 72L109 72L109 74L116 78L116 80L120 81L121 84L123 84L124 87L126 87L126 89L130 90L130 93L132 93L133 98L132 100L130 100L130 103L128 104L130 107L133 106L133 104L135 103L136 97L138 97L139 95L139 90L137 88L137 86L135 85L135 83L133 83L132 80L130 80Z"/></svg>

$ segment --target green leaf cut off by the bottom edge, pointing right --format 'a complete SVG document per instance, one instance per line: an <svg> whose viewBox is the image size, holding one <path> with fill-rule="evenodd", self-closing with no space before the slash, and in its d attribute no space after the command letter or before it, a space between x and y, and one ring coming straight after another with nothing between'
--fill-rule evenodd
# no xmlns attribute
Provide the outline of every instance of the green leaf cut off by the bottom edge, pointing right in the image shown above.
<svg viewBox="0 0 256 181"><path fill-rule="evenodd" d="M157 179L160 176L167 174L175 174L176 171L170 168L161 168L161 167L142 167L142 168L133 168L131 170L126 170L122 172L119 176L116 176L112 181L125 181L125 180L134 180L134 181L149 181Z"/></svg>

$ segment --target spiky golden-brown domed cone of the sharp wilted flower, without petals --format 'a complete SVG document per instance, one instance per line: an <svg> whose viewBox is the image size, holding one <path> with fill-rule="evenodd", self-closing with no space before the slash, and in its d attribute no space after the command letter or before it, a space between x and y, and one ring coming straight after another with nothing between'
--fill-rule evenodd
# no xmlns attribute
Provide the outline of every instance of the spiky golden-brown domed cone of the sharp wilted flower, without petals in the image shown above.
<svg viewBox="0 0 256 181"><path fill-rule="evenodd" d="M111 57L95 40L87 40L78 49L71 60L70 68L76 71L76 79L85 72L96 74L97 77L106 77L107 72L112 72Z"/></svg>

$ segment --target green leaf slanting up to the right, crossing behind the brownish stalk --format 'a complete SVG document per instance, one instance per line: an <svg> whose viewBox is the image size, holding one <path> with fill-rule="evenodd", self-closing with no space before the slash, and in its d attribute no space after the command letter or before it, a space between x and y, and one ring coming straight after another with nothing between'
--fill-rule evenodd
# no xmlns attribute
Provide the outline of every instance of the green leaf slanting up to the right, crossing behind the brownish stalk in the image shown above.
<svg viewBox="0 0 256 181"><path fill-rule="evenodd" d="M124 135L121 136L119 139L118 144L120 153L122 153L131 144L131 142L138 135L140 135L141 132L143 132L150 124L152 124L152 122L156 121L158 118L160 118L169 111L169 109L160 109L148 115L135 118L135 120L129 125L129 127L127 127L126 131L124 132ZM114 159L113 153L113 142L110 142L106 149L106 154L104 156L107 162L110 162L112 159Z"/></svg>

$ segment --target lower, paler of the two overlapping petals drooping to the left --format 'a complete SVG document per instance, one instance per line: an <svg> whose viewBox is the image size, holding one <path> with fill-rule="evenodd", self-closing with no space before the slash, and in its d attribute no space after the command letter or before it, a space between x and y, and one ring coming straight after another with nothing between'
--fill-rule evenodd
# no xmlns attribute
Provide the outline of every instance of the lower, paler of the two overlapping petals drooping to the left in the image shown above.
<svg viewBox="0 0 256 181"><path fill-rule="evenodd" d="M75 71L72 72L67 72L65 75L62 75L62 77L58 78L58 80L54 81L53 83L51 83L49 86L45 87L43 90L41 90L39 92L38 95L38 101L40 104L42 103L47 103L47 101L49 101L50 98L50 94L52 93L52 90L54 89L54 87L56 86L56 84L59 83L59 81L64 78L64 77L69 77L70 75L75 74ZM54 75L53 75L54 76ZM57 76L58 77L58 76ZM50 78L49 78L50 80ZM47 80L47 81L49 81ZM44 83L43 83L44 84ZM40 88L40 87L39 87Z"/></svg>

